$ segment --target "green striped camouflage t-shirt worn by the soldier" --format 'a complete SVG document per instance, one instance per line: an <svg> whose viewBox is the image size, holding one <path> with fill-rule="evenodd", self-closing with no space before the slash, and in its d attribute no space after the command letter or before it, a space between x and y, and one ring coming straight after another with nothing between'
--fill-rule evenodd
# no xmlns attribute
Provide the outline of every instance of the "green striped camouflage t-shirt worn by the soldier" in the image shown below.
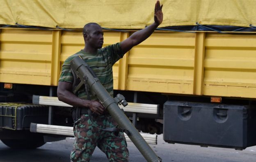
<svg viewBox="0 0 256 162"><path fill-rule="evenodd" d="M76 56L81 56L85 62L91 67L98 79L100 79L102 85L107 92L113 97L113 71L112 66L120 58L123 57L120 43L109 45L107 47L98 49L97 53L88 53L83 50L69 56L62 65L62 73L59 81L65 81L73 83L73 74L70 69L70 62ZM85 88L80 88L78 91L78 97L87 99ZM90 95L91 100L97 99Z"/></svg>

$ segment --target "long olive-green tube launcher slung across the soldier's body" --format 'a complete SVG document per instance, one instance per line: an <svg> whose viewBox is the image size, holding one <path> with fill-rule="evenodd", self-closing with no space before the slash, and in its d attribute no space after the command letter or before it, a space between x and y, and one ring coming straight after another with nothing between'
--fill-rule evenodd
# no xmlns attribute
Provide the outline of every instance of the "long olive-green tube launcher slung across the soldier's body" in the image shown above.
<svg viewBox="0 0 256 162"><path fill-rule="evenodd" d="M161 158L158 157L151 149L145 139L139 134L135 126L130 122L128 117L123 113L123 110L119 108L117 102L127 105L124 97L117 96L115 99L105 90L100 80L95 76L94 72L87 65L87 63L77 56L71 61L71 69L81 79L81 81L87 86L92 93L96 94L103 106L107 108L110 115L117 121L120 128L128 130L128 137L138 148L140 153L145 157L148 162L161 162ZM87 94L88 95L88 94Z"/></svg>

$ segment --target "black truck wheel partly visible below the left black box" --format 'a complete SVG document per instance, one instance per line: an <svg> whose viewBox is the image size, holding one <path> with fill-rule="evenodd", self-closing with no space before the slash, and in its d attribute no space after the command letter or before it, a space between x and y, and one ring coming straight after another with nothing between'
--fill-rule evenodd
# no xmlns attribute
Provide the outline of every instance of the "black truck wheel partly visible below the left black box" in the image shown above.
<svg viewBox="0 0 256 162"><path fill-rule="evenodd" d="M1 139L1 141L10 148L34 149L43 146L43 136L36 136L27 139Z"/></svg>

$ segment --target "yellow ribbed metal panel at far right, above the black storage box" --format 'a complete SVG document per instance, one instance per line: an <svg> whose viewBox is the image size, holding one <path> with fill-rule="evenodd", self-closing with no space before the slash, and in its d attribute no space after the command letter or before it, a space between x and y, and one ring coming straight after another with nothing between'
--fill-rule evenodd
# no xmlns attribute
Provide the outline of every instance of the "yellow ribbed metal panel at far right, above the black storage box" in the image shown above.
<svg viewBox="0 0 256 162"><path fill-rule="evenodd" d="M204 95L256 97L254 35L206 35Z"/></svg>

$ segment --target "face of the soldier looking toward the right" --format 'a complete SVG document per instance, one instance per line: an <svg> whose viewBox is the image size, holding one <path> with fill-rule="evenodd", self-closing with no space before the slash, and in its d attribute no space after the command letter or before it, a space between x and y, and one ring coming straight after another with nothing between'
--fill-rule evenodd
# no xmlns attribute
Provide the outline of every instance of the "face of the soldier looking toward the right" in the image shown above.
<svg viewBox="0 0 256 162"><path fill-rule="evenodd" d="M93 48L102 48L103 46L103 30L99 25L91 25L89 27L88 44Z"/></svg>

